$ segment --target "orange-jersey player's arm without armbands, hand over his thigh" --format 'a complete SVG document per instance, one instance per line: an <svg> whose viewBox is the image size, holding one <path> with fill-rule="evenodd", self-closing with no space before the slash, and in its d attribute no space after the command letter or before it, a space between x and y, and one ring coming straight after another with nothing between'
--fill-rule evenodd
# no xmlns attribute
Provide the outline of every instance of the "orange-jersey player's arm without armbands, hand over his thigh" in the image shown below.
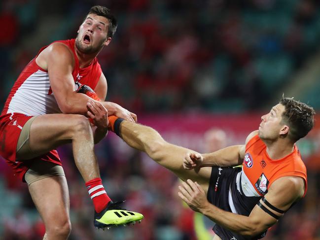
<svg viewBox="0 0 320 240"><path fill-rule="evenodd" d="M257 132L253 131L249 134L246 144L252 137L257 135ZM225 147L212 153L201 154L201 156L190 152L184 157L183 167L190 170L197 166L238 166L242 164L245 157L246 144Z"/></svg>

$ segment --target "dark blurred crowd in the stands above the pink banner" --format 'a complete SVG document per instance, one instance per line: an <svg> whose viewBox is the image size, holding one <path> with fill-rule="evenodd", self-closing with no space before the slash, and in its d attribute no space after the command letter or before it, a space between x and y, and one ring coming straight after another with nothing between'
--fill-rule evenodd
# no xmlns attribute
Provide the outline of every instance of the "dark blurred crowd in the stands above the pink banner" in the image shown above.
<svg viewBox="0 0 320 240"><path fill-rule="evenodd" d="M75 37L94 4L119 21L99 56L107 98L133 111L260 108L320 40L318 0L4 0L2 102L37 50Z"/></svg>

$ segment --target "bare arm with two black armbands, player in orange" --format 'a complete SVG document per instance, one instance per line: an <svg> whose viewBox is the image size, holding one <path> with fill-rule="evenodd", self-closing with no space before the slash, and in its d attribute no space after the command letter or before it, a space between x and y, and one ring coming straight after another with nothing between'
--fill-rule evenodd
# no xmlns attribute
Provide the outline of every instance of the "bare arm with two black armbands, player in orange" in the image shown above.
<svg viewBox="0 0 320 240"><path fill-rule="evenodd" d="M187 183L183 182L179 191L179 196L191 209L203 213L223 228L240 235L251 237L259 235L278 221L257 205L252 209L249 216L234 214L213 206L208 202L200 185L193 183L191 180L188 180ZM300 177L287 176L276 180L269 188L265 198L271 205L286 211L303 196L303 193L304 180ZM277 216L283 215L272 210L262 201L260 203Z"/></svg>

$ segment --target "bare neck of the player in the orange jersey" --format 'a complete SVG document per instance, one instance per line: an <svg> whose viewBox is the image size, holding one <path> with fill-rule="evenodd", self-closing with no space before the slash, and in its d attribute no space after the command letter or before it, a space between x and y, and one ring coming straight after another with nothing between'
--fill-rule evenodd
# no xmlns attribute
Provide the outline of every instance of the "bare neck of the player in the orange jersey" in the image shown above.
<svg viewBox="0 0 320 240"><path fill-rule="evenodd" d="M266 145L267 153L272 160L282 159L294 150L294 143L283 138L273 142L266 142Z"/></svg>

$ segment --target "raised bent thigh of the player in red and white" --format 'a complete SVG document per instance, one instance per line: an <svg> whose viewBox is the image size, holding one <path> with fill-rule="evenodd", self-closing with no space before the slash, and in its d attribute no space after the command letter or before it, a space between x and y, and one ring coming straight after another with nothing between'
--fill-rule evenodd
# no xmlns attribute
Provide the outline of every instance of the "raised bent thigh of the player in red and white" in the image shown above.
<svg viewBox="0 0 320 240"><path fill-rule="evenodd" d="M85 126L87 125L87 126ZM30 148L35 153L45 153L71 142L74 133L90 129L89 120L77 114L45 114L37 116L30 128Z"/></svg>

